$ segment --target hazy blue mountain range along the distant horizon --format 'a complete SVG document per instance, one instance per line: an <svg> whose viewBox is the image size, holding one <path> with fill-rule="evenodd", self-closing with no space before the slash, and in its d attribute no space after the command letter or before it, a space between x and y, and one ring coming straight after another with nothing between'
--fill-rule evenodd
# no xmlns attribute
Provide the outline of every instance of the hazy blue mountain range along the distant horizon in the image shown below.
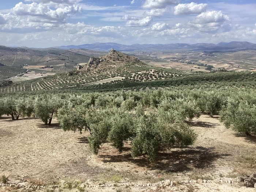
<svg viewBox="0 0 256 192"><path fill-rule="evenodd" d="M241 50L256 49L256 44L244 41L220 42L219 44L133 44L122 45L117 43L94 43L83 45L58 46L59 49L90 49L96 51L108 51L114 48L123 52L175 52L175 51L221 51L221 50Z"/></svg>

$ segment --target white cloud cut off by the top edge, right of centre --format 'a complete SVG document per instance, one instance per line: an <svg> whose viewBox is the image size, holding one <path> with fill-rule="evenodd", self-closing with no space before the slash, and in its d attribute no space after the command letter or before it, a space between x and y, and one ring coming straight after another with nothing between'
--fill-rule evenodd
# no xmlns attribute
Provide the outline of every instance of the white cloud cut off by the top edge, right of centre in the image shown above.
<svg viewBox="0 0 256 192"><path fill-rule="evenodd" d="M166 8L167 5L177 4L178 0L146 0L142 5L145 9L161 9Z"/></svg>

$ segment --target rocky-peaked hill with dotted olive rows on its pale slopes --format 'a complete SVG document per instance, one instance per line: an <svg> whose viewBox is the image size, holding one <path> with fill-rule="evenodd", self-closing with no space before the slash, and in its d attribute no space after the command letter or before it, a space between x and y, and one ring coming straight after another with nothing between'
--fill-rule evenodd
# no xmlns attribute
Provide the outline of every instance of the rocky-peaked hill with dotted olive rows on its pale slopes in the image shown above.
<svg viewBox="0 0 256 192"><path fill-rule="evenodd" d="M93 61L98 60L95 63ZM63 67L63 66L61 66ZM170 78L179 78L186 73L174 69L151 67L116 50L81 66L78 71L60 73L39 79L12 83L11 86L0 87L0 93L16 91L57 90L67 87L91 86L93 84L117 84L121 81L147 82ZM55 69L52 69L56 70Z"/></svg>

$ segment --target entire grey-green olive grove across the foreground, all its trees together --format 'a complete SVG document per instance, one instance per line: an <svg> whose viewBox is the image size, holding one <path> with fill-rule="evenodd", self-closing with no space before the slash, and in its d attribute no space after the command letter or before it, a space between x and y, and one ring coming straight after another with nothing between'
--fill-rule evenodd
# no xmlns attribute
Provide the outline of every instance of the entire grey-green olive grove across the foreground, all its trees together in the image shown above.
<svg viewBox="0 0 256 192"><path fill-rule="evenodd" d="M252 92L202 90L155 90L147 92L38 95L1 98L0 113L39 117L50 125L53 116L65 131L90 131L90 148L97 154L102 143L110 142L122 151L131 141L133 157L147 155L154 161L159 150L188 145L196 134L186 121L220 112L227 128L250 135L255 131L256 99ZM248 102L249 101L249 102ZM144 112L142 105L151 110Z"/></svg>

